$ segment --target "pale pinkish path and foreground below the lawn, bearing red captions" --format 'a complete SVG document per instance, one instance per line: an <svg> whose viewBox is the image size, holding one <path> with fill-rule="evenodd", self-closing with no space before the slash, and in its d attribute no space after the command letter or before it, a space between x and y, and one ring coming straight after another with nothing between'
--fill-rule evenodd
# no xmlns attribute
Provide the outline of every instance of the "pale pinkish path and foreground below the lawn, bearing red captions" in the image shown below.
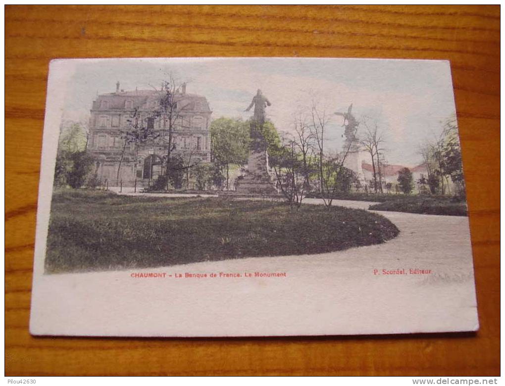
<svg viewBox="0 0 505 386"><path fill-rule="evenodd" d="M335 200L334 205L367 209L370 202ZM46 291L52 293L38 291L56 297L52 309L41 310L54 316L48 318L44 332L51 333L55 326L59 333L67 328L68 334L78 330L85 335L119 336L340 335L477 329L468 217L377 213L400 230L396 238L379 245L315 255L49 275ZM403 269L406 274L382 274L383 269ZM411 274L410 269L429 273ZM166 279L134 278L141 272L165 273ZM285 272L285 276L255 277L255 272ZM186 278L186 273L207 274L207 278ZM211 273L217 277L211 278ZM223 273L240 277L230 278ZM65 291L55 291L55 281L60 281ZM74 305L76 298L86 299L85 304ZM82 312L93 313L96 323L81 322ZM72 320L71 326L65 324L67 319Z"/></svg>

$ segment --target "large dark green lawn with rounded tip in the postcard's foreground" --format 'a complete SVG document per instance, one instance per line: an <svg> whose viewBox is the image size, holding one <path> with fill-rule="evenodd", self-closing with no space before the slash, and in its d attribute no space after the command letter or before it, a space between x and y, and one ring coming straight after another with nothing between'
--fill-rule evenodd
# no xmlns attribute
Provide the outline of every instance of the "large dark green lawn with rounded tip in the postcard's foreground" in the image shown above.
<svg viewBox="0 0 505 386"><path fill-rule="evenodd" d="M398 232L388 219L360 209L65 190L53 195L45 271L315 254L383 243Z"/></svg>

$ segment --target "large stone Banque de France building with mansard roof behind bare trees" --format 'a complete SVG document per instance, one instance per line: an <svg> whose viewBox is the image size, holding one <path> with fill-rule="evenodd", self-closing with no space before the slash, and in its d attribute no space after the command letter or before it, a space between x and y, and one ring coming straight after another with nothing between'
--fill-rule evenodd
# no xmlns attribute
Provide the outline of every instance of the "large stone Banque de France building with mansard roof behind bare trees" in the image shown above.
<svg viewBox="0 0 505 386"><path fill-rule="evenodd" d="M96 159L96 174L104 184L147 186L164 173L168 150L168 124L166 118L156 114L160 93L124 91L119 86L118 82L116 92L98 95L93 101L87 150ZM174 100L177 114L172 154L191 163L210 161L212 111L209 102L205 96L186 93L185 84ZM125 147L125 133L131 132L134 123L147 129L151 138L132 141Z"/></svg>

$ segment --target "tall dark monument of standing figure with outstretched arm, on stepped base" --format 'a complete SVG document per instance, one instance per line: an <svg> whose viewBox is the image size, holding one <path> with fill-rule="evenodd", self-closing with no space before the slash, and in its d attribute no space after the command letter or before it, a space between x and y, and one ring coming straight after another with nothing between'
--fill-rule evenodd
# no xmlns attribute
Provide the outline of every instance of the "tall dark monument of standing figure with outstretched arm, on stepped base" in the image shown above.
<svg viewBox="0 0 505 386"><path fill-rule="evenodd" d="M252 98L249 111L254 106L254 117L250 121L250 152L247 160L247 171L244 176L237 180L236 192L240 194L277 194L275 183L269 174L267 142L263 136L265 124L265 108L271 103L261 90L258 90Z"/></svg>

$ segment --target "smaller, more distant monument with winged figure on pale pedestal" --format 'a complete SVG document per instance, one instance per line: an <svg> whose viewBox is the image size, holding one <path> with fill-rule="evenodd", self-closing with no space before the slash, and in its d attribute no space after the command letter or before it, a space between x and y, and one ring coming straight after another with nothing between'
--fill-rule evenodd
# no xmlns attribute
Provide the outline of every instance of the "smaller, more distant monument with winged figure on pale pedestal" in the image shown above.
<svg viewBox="0 0 505 386"><path fill-rule="evenodd" d="M344 167L356 173L356 176L361 183L365 183L365 175L363 173L362 163L367 159L367 153L360 146L360 140L357 136L358 126L360 123L352 115L352 103L346 113L335 113L344 118L344 144L343 152L347 153L344 160Z"/></svg>

